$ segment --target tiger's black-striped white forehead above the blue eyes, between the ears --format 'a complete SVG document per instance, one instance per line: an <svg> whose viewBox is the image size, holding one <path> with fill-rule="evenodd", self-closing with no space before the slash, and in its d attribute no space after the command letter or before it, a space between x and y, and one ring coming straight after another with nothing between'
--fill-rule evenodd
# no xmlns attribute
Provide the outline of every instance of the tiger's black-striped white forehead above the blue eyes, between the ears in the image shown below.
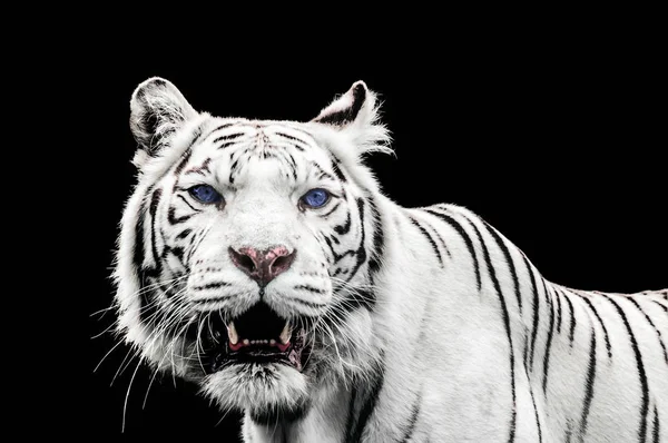
<svg viewBox="0 0 668 443"><path fill-rule="evenodd" d="M296 180L314 169L331 170L332 155L310 129L292 121L212 119L194 135L186 173L224 173L234 183L249 175Z"/></svg>

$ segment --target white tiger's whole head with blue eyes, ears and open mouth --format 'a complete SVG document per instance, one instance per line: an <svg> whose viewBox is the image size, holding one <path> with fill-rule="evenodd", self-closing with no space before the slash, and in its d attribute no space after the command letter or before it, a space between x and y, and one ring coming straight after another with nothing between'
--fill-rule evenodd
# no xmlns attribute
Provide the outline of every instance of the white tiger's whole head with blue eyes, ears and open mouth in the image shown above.
<svg viewBox="0 0 668 443"><path fill-rule="evenodd" d="M358 81L312 121L249 120L151 78L130 128L117 329L144 361L261 422L364 376L384 238L362 156L389 151L374 93Z"/></svg>

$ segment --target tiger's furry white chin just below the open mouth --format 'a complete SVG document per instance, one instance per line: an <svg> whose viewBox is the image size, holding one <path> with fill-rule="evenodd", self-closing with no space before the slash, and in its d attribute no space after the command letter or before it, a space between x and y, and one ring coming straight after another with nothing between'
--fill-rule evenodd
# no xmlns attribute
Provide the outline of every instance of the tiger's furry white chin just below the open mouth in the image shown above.
<svg viewBox="0 0 668 443"><path fill-rule="evenodd" d="M236 363L203 381L223 411L246 411L258 423L293 421L308 404L308 377L284 363Z"/></svg>

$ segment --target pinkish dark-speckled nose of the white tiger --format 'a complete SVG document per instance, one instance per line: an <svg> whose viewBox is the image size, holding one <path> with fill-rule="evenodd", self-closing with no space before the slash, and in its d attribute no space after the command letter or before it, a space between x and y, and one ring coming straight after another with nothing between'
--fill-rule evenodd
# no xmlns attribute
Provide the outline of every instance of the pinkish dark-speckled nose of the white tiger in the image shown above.
<svg viewBox="0 0 668 443"><path fill-rule="evenodd" d="M237 250L229 248L229 256L236 267L253 278L259 286L266 286L279 274L287 270L295 258L285 246L276 246L267 250L243 247Z"/></svg>

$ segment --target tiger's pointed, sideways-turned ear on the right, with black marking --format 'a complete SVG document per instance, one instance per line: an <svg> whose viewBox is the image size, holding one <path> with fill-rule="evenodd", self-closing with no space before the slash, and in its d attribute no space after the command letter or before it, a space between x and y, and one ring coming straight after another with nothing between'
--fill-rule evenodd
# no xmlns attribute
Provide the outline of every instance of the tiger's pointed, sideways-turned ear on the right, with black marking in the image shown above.
<svg viewBox="0 0 668 443"><path fill-rule="evenodd" d="M390 151L385 146L390 141L390 134L379 122L379 114L375 93L360 80L311 121L331 126L342 132L350 132L361 152Z"/></svg>

